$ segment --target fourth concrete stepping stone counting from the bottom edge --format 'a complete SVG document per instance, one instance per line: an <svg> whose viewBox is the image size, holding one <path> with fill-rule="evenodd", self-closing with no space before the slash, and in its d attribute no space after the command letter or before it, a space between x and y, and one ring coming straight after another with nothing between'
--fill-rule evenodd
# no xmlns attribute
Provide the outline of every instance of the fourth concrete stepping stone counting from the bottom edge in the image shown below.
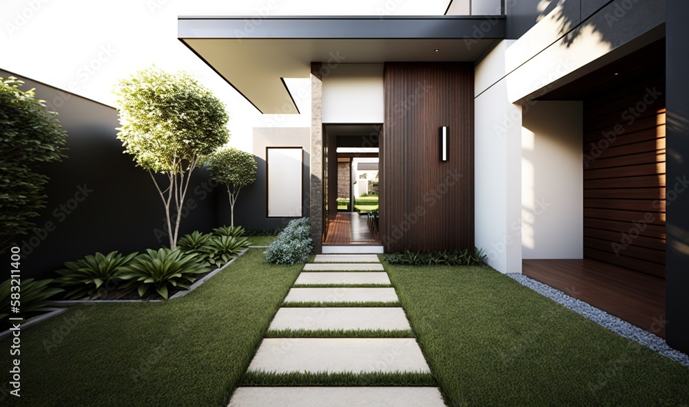
<svg viewBox="0 0 689 407"><path fill-rule="evenodd" d="M394 288L293 288L287 293L285 303L364 303L375 301L389 303L398 301Z"/></svg>

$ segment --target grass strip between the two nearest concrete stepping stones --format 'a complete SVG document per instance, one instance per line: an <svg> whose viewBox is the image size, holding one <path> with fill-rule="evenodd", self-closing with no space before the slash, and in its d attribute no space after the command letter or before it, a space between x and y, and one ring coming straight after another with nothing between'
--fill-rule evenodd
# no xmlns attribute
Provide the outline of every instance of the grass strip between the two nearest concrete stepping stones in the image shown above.
<svg viewBox="0 0 689 407"><path fill-rule="evenodd" d="M242 386L437 386L430 373L274 373L250 371Z"/></svg>

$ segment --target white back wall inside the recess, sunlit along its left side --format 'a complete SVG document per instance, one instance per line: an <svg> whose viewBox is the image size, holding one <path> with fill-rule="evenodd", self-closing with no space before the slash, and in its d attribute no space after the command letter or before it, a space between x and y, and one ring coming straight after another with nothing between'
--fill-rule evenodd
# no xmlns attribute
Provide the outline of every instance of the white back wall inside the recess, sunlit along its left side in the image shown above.
<svg viewBox="0 0 689 407"><path fill-rule="evenodd" d="M539 100L522 118L522 256L584 257L583 104Z"/></svg>

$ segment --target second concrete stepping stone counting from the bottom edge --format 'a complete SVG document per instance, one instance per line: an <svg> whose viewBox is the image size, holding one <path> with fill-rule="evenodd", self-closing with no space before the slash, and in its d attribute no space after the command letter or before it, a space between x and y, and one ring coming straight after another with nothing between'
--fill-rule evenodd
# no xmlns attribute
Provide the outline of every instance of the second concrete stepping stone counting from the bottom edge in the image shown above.
<svg viewBox="0 0 689 407"><path fill-rule="evenodd" d="M414 338L264 339L249 371L430 373Z"/></svg>

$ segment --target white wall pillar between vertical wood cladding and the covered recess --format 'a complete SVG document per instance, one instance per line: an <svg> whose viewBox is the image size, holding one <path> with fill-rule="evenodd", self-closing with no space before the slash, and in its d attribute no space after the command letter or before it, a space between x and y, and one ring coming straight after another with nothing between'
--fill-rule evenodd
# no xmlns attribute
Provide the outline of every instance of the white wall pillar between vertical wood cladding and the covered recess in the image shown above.
<svg viewBox="0 0 689 407"><path fill-rule="evenodd" d="M475 71L475 244L502 273L522 272L521 108L508 102L502 41Z"/></svg>

